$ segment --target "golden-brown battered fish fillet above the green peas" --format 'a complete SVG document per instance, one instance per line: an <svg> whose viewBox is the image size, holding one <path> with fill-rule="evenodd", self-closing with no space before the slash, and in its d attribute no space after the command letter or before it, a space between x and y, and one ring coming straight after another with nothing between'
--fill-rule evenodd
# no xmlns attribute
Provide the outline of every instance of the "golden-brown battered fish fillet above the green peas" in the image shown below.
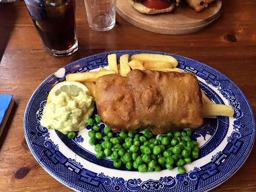
<svg viewBox="0 0 256 192"><path fill-rule="evenodd" d="M147 128L162 134L203 124L202 93L192 73L135 69L127 77L104 75L95 92L99 116L115 132Z"/></svg>

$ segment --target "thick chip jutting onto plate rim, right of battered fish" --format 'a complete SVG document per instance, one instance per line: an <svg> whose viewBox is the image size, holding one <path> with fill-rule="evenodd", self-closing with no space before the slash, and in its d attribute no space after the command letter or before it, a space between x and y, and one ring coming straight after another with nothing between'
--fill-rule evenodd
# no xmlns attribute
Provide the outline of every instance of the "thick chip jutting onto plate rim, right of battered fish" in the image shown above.
<svg viewBox="0 0 256 192"><path fill-rule="evenodd" d="M234 109L222 104L205 104L203 105L203 117L225 116L233 117Z"/></svg>

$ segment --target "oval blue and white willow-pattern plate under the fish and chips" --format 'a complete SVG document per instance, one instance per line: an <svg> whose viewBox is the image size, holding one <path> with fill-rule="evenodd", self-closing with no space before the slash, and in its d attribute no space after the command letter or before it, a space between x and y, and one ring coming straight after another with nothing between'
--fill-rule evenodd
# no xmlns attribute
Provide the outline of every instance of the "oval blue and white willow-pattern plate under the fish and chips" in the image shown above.
<svg viewBox="0 0 256 192"><path fill-rule="evenodd" d="M235 110L233 118L205 119L202 127L194 129L193 138L199 143L200 157L185 165L186 174L178 174L177 168L148 173L129 171L125 167L116 169L111 159L96 158L94 147L88 144L90 125L80 131L75 139L69 140L62 133L39 124L46 98L56 83L65 81L65 75L70 73L108 68L108 54L111 53L116 53L118 59L123 54L171 55L178 60L177 68L196 74L200 86L212 101L229 105ZM100 127L103 129L105 125L101 123ZM45 79L27 104L24 131L31 153L38 163L51 176L75 191L202 192L226 181L245 162L255 140L255 119L245 95L236 84L215 69L169 53L123 50L74 61Z"/></svg>

